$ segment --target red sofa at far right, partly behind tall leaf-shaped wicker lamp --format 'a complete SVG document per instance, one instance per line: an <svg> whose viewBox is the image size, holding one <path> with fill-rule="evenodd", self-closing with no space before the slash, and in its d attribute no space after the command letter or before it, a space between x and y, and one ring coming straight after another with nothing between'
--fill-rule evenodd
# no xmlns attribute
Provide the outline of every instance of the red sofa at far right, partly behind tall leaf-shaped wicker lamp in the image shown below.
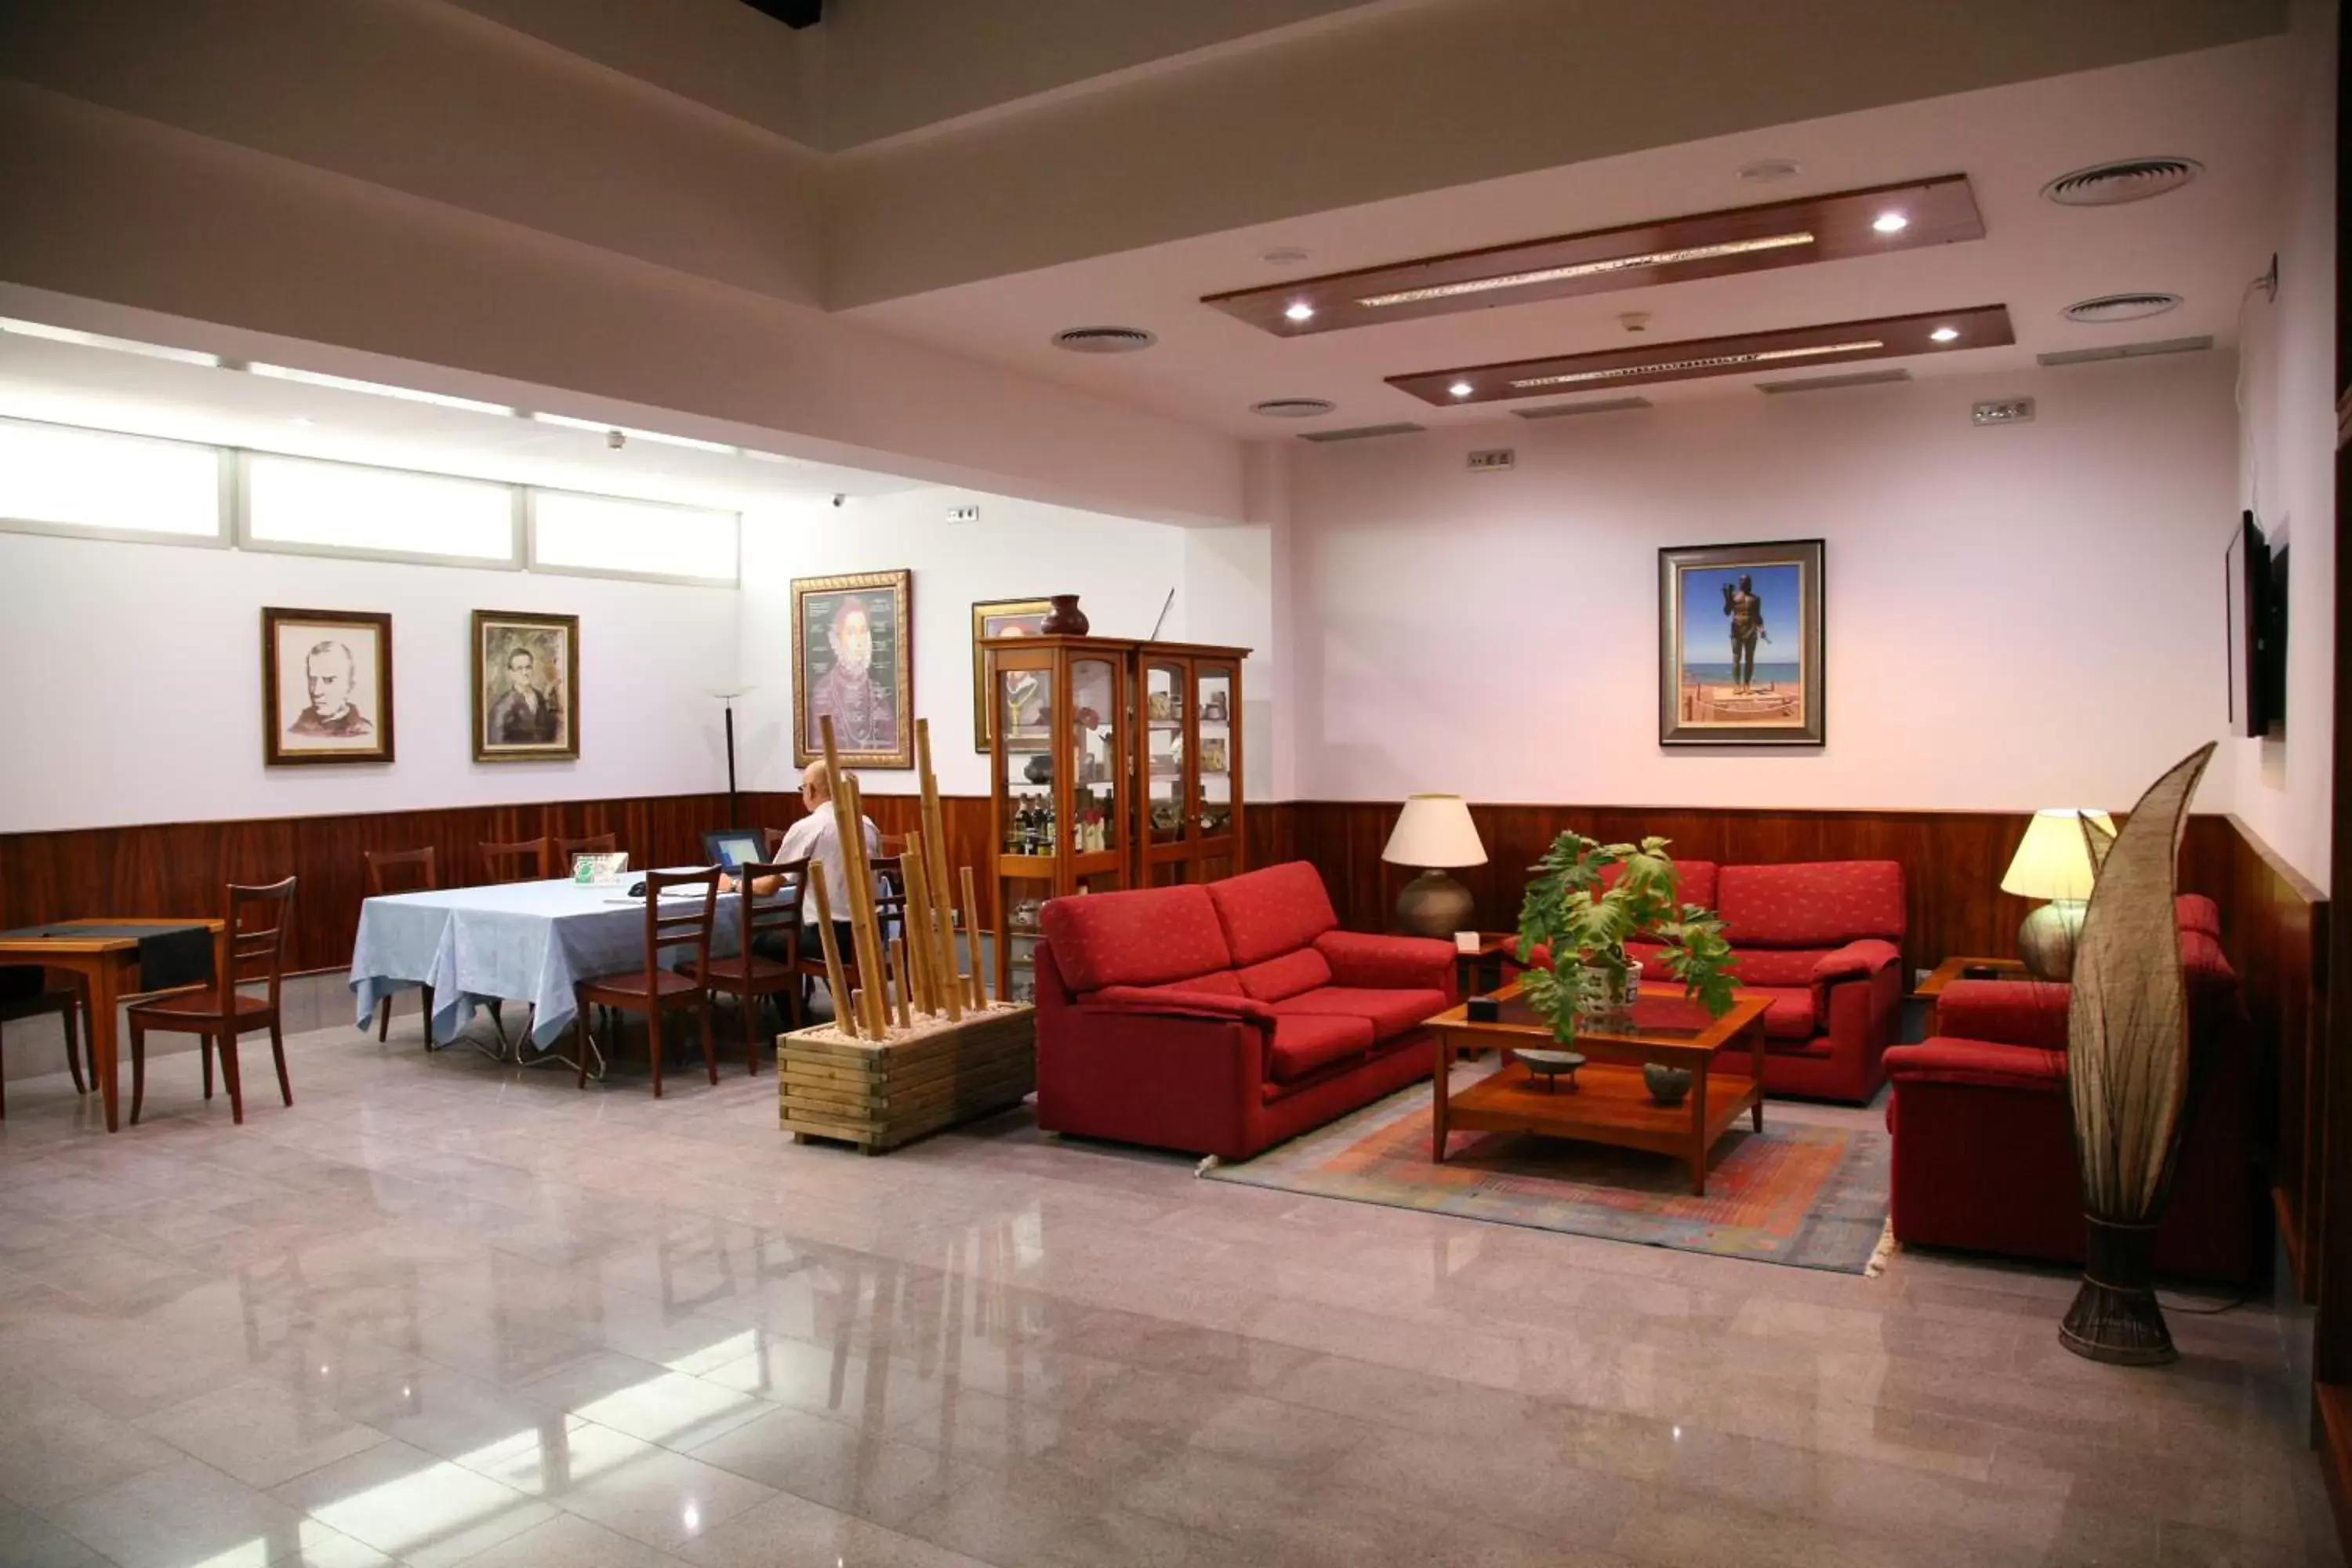
<svg viewBox="0 0 2352 1568"><path fill-rule="evenodd" d="M2180 898L2180 957L2190 1105L2157 1269L2246 1279L2256 1063L2211 898ZM2082 1262L2065 1044L2065 985L1959 980L1938 999L1938 1034L1886 1053L1898 1241Z"/></svg>

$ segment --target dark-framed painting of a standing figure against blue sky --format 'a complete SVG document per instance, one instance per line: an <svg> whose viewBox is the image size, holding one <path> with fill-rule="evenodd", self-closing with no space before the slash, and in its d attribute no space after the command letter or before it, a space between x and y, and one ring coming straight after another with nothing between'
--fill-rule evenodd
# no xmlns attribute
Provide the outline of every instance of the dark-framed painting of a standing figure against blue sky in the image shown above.
<svg viewBox="0 0 2352 1568"><path fill-rule="evenodd" d="M1658 745L1823 745L1820 541L1658 550Z"/></svg>

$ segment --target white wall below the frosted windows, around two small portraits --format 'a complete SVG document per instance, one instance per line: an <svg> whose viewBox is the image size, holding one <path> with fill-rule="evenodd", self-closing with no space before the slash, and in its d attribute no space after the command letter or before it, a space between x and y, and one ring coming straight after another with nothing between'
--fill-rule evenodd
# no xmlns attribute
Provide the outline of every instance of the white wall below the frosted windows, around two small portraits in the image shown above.
<svg viewBox="0 0 2352 1568"><path fill-rule="evenodd" d="M390 764L261 766L261 607L393 616ZM473 762L475 609L581 618L579 762ZM736 595L0 534L0 832L727 788Z"/></svg>

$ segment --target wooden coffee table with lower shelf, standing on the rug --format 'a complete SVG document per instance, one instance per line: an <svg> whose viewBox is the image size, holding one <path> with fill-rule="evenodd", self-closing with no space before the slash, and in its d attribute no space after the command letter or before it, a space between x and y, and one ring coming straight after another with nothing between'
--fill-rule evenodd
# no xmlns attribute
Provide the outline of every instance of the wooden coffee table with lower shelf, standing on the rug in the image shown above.
<svg viewBox="0 0 2352 1568"><path fill-rule="evenodd" d="M1519 985L1496 992L1501 1018L1470 1023L1468 1009L1430 1018L1437 1039L1437 1093L1430 1100L1430 1159L1444 1164L1446 1133L1543 1133L1583 1138L1628 1150L1679 1154L1691 1166L1691 1192L1708 1194L1708 1150L1740 1112L1764 1131L1764 997L1740 992L1731 1011L1708 1011L1682 997L1679 985L1644 985L1632 1027L1578 1030L1576 1051L1588 1058L1576 1088L1545 1088L1512 1046L1552 1046L1552 1027L1519 997ZM1491 1077L1451 1091L1454 1053L1498 1046L1503 1065ZM1642 1084L1642 1065L1686 1067L1691 1095L1682 1105L1658 1105Z"/></svg>

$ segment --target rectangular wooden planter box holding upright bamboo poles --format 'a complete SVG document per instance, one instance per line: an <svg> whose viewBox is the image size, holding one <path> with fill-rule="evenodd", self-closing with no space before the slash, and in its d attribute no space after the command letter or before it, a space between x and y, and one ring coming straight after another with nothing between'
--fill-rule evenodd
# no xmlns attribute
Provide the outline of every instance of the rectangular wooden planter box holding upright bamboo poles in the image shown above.
<svg viewBox="0 0 2352 1568"><path fill-rule="evenodd" d="M776 1039L776 1088L793 1143L833 1138L882 1154L1025 1100L1037 1088L1037 1009L1000 1001L882 1041L795 1030Z"/></svg>

